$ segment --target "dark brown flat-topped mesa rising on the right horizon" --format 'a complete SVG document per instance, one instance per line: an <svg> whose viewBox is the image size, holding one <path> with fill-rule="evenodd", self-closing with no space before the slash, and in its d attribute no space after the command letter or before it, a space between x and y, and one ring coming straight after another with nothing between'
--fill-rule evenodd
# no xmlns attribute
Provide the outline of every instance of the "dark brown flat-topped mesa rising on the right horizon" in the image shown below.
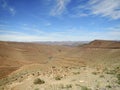
<svg viewBox="0 0 120 90"><path fill-rule="evenodd" d="M84 48L120 49L120 41L94 40L83 46Z"/></svg>

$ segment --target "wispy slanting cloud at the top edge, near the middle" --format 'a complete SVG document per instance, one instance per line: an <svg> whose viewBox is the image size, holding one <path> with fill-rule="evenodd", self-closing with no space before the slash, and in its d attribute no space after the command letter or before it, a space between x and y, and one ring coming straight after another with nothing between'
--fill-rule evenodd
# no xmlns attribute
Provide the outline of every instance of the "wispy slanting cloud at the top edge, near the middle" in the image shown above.
<svg viewBox="0 0 120 90"><path fill-rule="evenodd" d="M66 6L71 0L55 0L55 1L56 1L55 7L50 12L52 16L61 15L65 11Z"/></svg>

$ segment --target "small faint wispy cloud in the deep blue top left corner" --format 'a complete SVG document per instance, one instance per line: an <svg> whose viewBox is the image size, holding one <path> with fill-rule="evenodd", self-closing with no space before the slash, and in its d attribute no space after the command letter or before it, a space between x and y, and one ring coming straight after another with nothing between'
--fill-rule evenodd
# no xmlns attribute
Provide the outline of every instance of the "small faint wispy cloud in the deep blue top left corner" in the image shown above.
<svg viewBox="0 0 120 90"><path fill-rule="evenodd" d="M13 7L9 6L6 0L2 0L1 2L2 2L2 8L6 9L12 16L14 16L16 10Z"/></svg>

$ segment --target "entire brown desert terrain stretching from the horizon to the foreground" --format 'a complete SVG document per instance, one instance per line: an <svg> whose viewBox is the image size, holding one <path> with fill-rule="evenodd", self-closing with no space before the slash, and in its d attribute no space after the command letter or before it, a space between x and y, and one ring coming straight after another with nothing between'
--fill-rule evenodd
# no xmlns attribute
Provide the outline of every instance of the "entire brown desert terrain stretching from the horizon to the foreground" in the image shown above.
<svg viewBox="0 0 120 90"><path fill-rule="evenodd" d="M120 90L119 74L118 41L95 40L74 47L0 42L0 90ZM45 84L34 85L35 78Z"/></svg>

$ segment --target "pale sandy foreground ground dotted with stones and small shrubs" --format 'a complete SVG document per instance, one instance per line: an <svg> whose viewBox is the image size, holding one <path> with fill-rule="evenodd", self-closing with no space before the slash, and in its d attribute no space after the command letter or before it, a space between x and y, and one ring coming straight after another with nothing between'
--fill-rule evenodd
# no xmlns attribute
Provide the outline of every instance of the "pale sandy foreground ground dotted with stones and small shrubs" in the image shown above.
<svg viewBox="0 0 120 90"><path fill-rule="evenodd" d="M45 83L35 84L38 78ZM116 82L114 74L97 67L51 67L49 71L21 75L1 86L1 90L120 90Z"/></svg>

